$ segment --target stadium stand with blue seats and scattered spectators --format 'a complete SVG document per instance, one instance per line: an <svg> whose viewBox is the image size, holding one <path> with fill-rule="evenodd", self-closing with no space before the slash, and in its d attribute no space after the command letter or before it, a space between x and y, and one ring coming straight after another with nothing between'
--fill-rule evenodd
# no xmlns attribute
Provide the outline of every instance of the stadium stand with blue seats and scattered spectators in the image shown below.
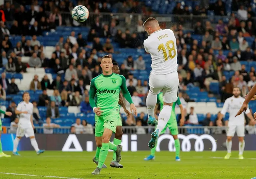
<svg viewBox="0 0 256 179"><path fill-rule="evenodd" d="M194 107L198 126L202 126L208 112L212 114L211 120L216 120L224 100L232 95L232 87L240 87L245 96L256 83L254 1L245 1L245 8L232 0L70 0L65 1L65 7L52 1L49 4L42 0L24 2L5 3L6 22L0 30L0 104L7 110L11 110L12 101L18 104L22 92L28 91L31 101L37 102L42 122L46 120L50 104L46 101L52 99L60 111L60 118L52 119L54 123L71 126L80 118L94 125L92 110L81 113L80 103L86 102L90 80L101 73L101 57L110 54L120 65L120 73L126 77L128 86L132 81L134 87L128 87L129 92L139 92L142 99L139 112L146 113L151 58L143 49L147 35L142 22L151 14L163 28L172 29L176 35L180 98L186 114ZM37 2L41 6L36 5ZM104 3L107 8L103 8ZM70 10L76 5L85 5L90 11L90 18L84 24L71 19ZM124 17L115 14L118 12L134 14ZM16 68L15 73L8 72L12 67ZM82 79L83 84L79 84L78 79ZM17 90L11 90L14 84ZM43 92L45 89L47 94ZM80 96L76 96L76 91ZM250 103L250 108L255 111L256 103ZM177 109L176 114L179 113ZM126 116L122 116L125 125ZM3 126L10 126L14 119L15 116L2 118Z"/></svg>

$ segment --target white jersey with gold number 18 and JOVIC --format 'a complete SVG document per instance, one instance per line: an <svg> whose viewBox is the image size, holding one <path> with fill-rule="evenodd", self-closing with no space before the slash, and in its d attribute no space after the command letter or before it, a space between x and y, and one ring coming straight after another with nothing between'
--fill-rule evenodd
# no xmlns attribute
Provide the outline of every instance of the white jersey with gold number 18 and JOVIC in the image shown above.
<svg viewBox="0 0 256 179"><path fill-rule="evenodd" d="M165 75L177 71L177 45L174 33L170 29L161 29L144 40L144 48L152 58L152 72Z"/></svg>

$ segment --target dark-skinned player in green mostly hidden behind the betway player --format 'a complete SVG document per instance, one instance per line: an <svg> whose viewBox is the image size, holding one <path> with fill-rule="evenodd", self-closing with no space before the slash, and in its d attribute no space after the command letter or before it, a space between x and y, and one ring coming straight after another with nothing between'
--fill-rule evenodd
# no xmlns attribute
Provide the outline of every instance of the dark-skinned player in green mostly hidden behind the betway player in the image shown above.
<svg viewBox="0 0 256 179"><path fill-rule="evenodd" d="M116 73L116 74L119 74L120 70L119 70L119 66L118 66L117 63L113 63L112 72ZM127 114L127 116L129 116L130 112L126 109L126 106L124 104L124 100L122 99L122 95L121 94L119 94L118 104L121 105L124 108L124 112ZM96 117L95 119L98 118L96 115L95 115L95 117ZM118 123L116 125L116 133L115 133L115 138L114 138L114 142L113 142L114 145L118 146L118 145L121 144L122 135L123 135L122 119L120 117L120 119L118 119ZM97 147L95 157L92 159L92 161L94 163L96 163L96 165L98 165L99 156L100 156L100 148ZM106 167L107 166L105 164L102 165L102 168L106 168ZM110 167L115 167L115 168L122 168L123 167L123 165L119 164L116 161L116 153L115 152L113 152L113 157L112 157L112 161L110 163Z"/></svg>

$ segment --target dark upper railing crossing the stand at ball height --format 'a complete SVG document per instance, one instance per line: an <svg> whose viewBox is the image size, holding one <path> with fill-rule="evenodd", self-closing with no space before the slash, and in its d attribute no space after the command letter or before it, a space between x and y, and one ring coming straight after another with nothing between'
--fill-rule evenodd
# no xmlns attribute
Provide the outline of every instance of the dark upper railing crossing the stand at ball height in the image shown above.
<svg viewBox="0 0 256 179"><path fill-rule="evenodd" d="M66 21L66 24L72 24L72 17L70 12L60 12L62 18ZM50 14L50 12L48 12ZM156 18L158 22L165 23L166 27L170 28L174 23L183 25L188 29L193 29L196 22L210 21L212 24L217 24L218 20L223 20L225 24L232 18L231 16L214 16L209 14L208 16L195 16L195 15L174 15L174 14L151 14ZM109 24L112 19L118 20L120 27L137 28L138 20L145 20L148 16L144 14L133 13L93 13L90 12L90 16L86 22L80 24L81 26L90 26L94 24L96 18L100 18L100 22L103 24ZM254 20L256 18L253 18ZM204 24L202 24L204 25Z"/></svg>

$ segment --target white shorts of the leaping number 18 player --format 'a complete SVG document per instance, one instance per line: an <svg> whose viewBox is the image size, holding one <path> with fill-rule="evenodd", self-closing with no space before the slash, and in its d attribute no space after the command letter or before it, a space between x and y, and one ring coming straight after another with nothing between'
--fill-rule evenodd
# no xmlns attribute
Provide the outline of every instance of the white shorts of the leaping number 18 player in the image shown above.
<svg viewBox="0 0 256 179"><path fill-rule="evenodd" d="M166 75L155 75L151 72L149 75L149 86L153 94L158 94L163 90L164 102L175 102L178 99L180 87L178 72L174 71Z"/></svg>

